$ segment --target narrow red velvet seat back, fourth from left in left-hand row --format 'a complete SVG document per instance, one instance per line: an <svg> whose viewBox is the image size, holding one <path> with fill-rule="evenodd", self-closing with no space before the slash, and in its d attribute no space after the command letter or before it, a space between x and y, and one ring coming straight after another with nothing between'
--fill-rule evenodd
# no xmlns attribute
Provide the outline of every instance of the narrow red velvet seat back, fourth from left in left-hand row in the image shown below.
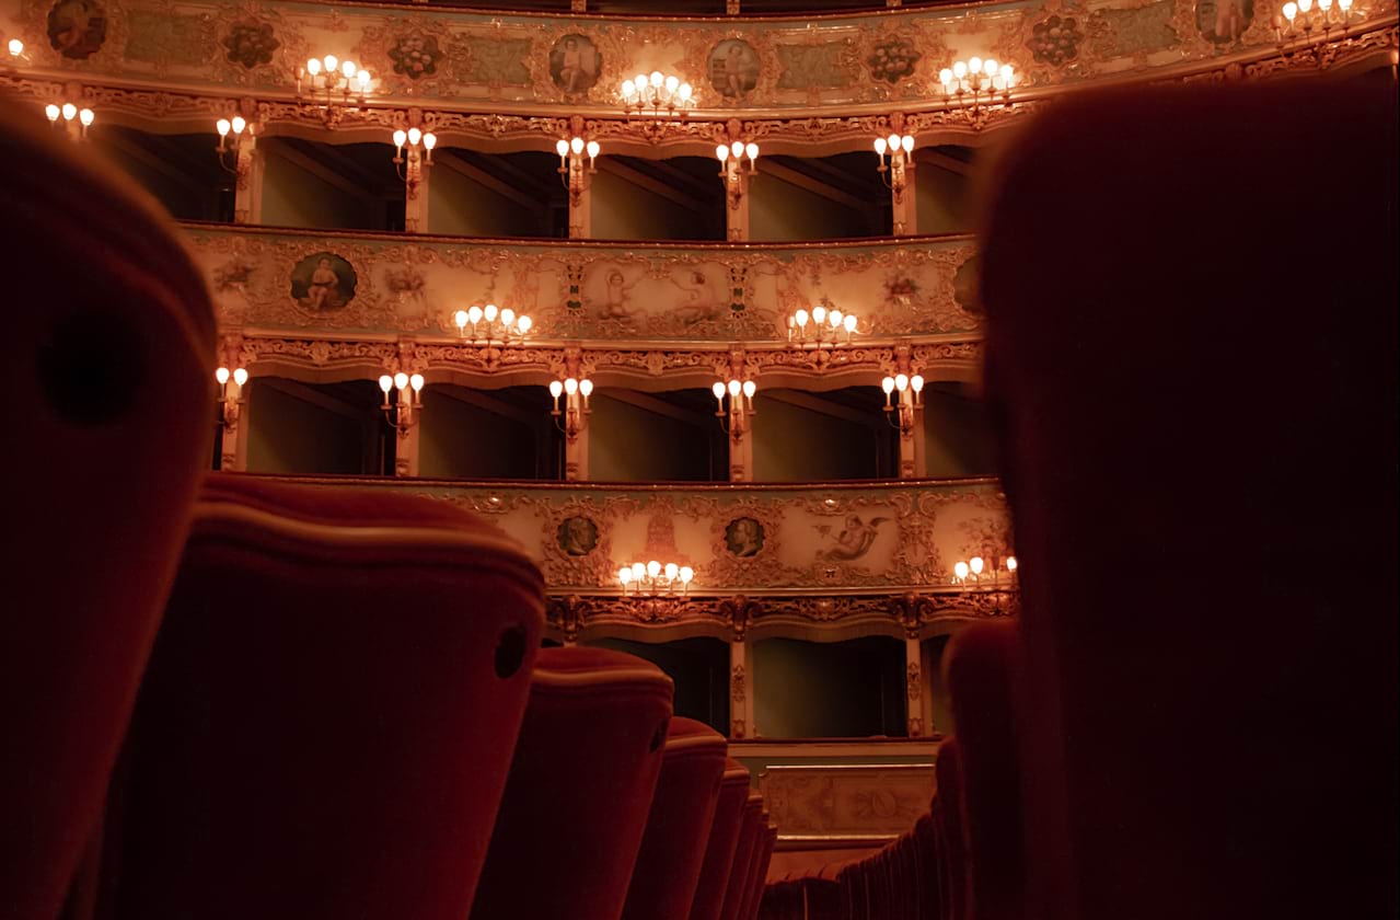
<svg viewBox="0 0 1400 920"><path fill-rule="evenodd" d="M675 717L647 833L627 888L624 920L686 920L720 801L729 742L693 718Z"/></svg>

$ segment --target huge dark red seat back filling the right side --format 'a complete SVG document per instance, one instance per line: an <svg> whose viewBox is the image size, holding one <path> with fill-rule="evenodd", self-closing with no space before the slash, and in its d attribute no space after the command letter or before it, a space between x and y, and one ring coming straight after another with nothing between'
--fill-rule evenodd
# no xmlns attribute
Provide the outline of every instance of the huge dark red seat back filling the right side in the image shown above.
<svg viewBox="0 0 1400 920"><path fill-rule="evenodd" d="M1396 916L1396 134L1383 83L1086 94L1000 169L1028 916Z"/></svg>

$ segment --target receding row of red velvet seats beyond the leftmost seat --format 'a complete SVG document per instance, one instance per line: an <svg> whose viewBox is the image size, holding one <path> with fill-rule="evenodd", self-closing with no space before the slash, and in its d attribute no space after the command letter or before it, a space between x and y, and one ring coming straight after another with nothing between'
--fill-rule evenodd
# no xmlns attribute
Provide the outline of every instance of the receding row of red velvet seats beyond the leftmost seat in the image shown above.
<svg viewBox="0 0 1400 920"><path fill-rule="evenodd" d="M655 665L542 627L538 571L470 514L213 475L95 916L749 920L773 839L725 738Z"/></svg>

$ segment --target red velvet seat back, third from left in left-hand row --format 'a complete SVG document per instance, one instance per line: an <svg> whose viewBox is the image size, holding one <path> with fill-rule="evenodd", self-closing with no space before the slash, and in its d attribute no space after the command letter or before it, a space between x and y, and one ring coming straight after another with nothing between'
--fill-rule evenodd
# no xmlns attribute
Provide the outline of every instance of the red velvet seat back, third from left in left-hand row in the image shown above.
<svg viewBox="0 0 1400 920"><path fill-rule="evenodd" d="M540 651L473 920L617 920L671 692L659 668L620 651Z"/></svg>

